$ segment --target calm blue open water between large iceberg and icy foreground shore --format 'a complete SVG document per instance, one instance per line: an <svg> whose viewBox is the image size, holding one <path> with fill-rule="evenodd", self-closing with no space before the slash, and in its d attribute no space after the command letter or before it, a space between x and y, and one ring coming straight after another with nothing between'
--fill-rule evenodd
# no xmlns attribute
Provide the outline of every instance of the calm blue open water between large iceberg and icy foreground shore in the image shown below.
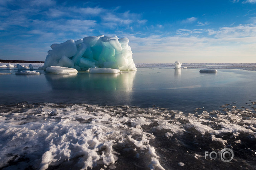
<svg viewBox="0 0 256 170"><path fill-rule="evenodd" d="M217 109L223 104L238 107L256 100L255 71L218 69L138 68L121 74L49 74L0 76L0 103L53 102L99 105L152 106L192 112Z"/></svg>

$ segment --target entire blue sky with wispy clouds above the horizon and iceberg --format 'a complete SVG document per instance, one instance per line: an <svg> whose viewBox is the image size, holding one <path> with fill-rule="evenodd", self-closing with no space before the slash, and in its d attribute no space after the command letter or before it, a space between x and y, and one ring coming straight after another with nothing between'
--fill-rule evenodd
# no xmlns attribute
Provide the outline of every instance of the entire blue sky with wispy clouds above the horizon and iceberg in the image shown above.
<svg viewBox="0 0 256 170"><path fill-rule="evenodd" d="M135 63L256 63L256 0L0 1L0 59L93 35L129 38Z"/></svg>

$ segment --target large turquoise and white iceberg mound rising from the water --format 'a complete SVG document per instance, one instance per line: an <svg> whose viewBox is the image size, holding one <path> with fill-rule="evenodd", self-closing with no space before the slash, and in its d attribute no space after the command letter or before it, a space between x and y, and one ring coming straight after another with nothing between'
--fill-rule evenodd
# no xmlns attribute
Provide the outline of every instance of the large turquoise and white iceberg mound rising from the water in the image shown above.
<svg viewBox="0 0 256 170"><path fill-rule="evenodd" d="M44 66L41 68L46 70L50 66L59 66L87 71L96 67L135 71L137 68L128 43L129 39L126 37L104 35L55 43L50 46L52 50L48 51Z"/></svg>

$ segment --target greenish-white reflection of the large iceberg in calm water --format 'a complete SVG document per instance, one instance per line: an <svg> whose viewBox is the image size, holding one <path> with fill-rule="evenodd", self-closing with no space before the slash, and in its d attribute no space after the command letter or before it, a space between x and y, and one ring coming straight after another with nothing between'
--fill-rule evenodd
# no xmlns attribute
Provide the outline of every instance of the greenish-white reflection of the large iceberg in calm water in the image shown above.
<svg viewBox="0 0 256 170"><path fill-rule="evenodd" d="M122 104L131 100L136 71L121 74L45 74L50 92L59 102ZM67 76L67 77L66 77Z"/></svg>

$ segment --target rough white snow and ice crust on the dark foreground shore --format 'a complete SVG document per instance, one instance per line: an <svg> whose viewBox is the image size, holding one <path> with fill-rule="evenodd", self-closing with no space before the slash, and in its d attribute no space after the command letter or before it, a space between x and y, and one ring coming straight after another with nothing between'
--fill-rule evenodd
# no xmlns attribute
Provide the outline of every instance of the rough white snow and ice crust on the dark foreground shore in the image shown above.
<svg viewBox="0 0 256 170"><path fill-rule="evenodd" d="M0 105L0 168L255 169L256 109L211 112L90 104ZM38 148L41 148L38 150ZM204 151L232 148L231 163Z"/></svg>

